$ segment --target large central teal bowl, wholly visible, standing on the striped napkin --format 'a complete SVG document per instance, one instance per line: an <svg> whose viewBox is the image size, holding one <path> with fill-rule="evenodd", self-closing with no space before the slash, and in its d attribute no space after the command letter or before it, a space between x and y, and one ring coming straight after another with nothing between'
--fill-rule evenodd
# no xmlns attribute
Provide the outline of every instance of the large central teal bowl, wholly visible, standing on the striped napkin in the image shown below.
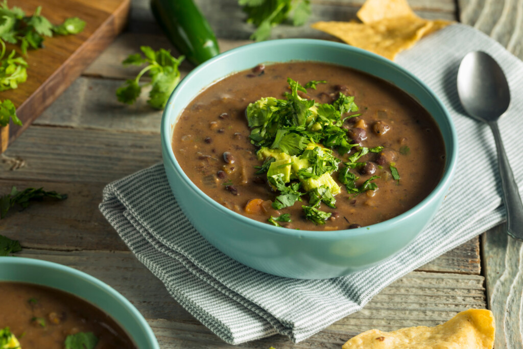
<svg viewBox="0 0 523 349"><path fill-rule="evenodd" d="M173 128L202 89L259 63L320 61L377 76L414 97L438 123L446 147L444 174L422 202L395 218L351 230L282 229L233 212L204 194L183 172L171 148ZM278 276L322 279L348 275L400 251L423 230L444 200L458 154L456 129L440 99L416 76L394 62L346 44L281 39L248 44L199 65L176 87L164 109L162 155L178 204L212 245L234 260ZM174 145L176 147L176 144Z"/></svg>

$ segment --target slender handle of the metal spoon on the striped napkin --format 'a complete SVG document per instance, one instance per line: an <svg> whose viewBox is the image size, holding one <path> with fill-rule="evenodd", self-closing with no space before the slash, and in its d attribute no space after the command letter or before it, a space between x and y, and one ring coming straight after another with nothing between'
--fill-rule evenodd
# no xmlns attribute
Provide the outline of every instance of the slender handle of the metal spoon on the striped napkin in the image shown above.
<svg viewBox="0 0 523 349"><path fill-rule="evenodd" d="M488 122L488 125L492 129L494 140L496 141L497 164L499 166L499 175L501 176L503 200L507 211L507 232L511 237L523 240L523 204L521 203L518 186L508 163L497 121Z"/></svg>

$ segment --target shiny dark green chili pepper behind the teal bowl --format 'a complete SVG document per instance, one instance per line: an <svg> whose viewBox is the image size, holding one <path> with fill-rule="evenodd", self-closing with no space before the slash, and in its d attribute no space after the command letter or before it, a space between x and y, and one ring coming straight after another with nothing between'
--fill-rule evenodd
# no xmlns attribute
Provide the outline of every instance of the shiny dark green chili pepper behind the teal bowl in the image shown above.
<svg viewBox="0 0 523 349"><path fill-rule="evenodd" d="M151 0L158 24L180 54L198 65L220 53L209 23L192 0Z"/></svg>

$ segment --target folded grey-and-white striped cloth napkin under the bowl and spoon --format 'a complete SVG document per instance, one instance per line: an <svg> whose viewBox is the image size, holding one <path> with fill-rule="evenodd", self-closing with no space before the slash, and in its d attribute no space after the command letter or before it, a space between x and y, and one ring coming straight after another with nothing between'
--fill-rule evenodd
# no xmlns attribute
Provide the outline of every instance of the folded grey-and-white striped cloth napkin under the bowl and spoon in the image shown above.
<svg viewBox="0 0 523 349"><path fill-rule="evenodd" d="M483 50L508 76L512 104L501 132L517 183L523 183L523 62L483 33L452 25L403 52L397 63L421 78L447 106L458 130L459 163L448 196L429 227L377 266L350 276L298 280L246 267L211 246L173 197L162 164L109 184L100 210L170 294L225 342L276 333L294 342L360 310L385 286L504 219L494 139L464 115L456 74L469 51Z"/></svg>

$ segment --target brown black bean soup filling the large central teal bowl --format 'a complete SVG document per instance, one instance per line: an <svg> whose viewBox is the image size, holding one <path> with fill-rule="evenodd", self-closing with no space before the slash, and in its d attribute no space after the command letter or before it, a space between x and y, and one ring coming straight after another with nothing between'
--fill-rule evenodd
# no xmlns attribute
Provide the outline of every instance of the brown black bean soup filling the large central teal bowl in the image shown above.
<svg viewBox="0 0 523 349"><path fill-rule="evenodd" d="M299 97L295 94L292 97L293 82L288 82L288 78L305 86L305 92L297 88ZM316 89L312 87L314 84L307 84L311 81L316 81ZM354 96L357 107L342 108L340 101L347 101L350 96ZM259 141L259 131L264 126L259 126L263 122L257 123L254 119L272 112L254 110L257 106L266 108L268 102L260 100L262 97L281 99L278 106L285 110L293 108L289 104L314 100L309 104L314 103L314 107L306 111L304 131L303 127L282 126L281 120L272 130L267 126L268 131L276 132L278 128L281 134L293 136L292 141L298 139L293 144L298 144L299 149L285 148L283 141L277 145L276 139L281 134ZM338 119L333 117L322 123L320 116L315 116L320 115L317 111L320 109L324 115L336 109ZM257 117L255 112L265 114ZM285 121L287 125L291 125L293 116L289 118L290 121ZM340 129L349 145L328 147L335 141L328 138L327 133L340 133ZM290 135L293 132L298 134ZM323 132L323 136L317 136L317 132ZM300 137L305 138L300 140ZM285 215L286 219L270 220L275 225L301 230L358 228L400 215L435 188L445 165L445 146L439 128L414 99L376 77L317 62L259 65L209 86L181 113L174 128L172 147L191 181L220 204L261 222ZM284 152L290 154L281 154ZM299 165L306 154L309 162ZM322 166L314 167L312 159L313 155L317 159L317 154L332 155L338 160L329 163L335 167L328 172L335 184L307 181L314 177L314 171L318 174L317 167L327 164L323 162ZM280 159L277 166L270 164ZM264 162L272 166L268 172ZM303 169L307 166L310 167ZM290 177L289 172L279 175L285 177L286 188L275 182L280 179L270 178L288 169ZM293 184L299 186L302 194L298 194L301 196L293 205L285 207L289 205L289 196L292 199L289 188ZM310 190L322 184L318 203L311 198ZM325 190L332 193L323 195ZM290 194L280 196L285 193Z"/></svg>

